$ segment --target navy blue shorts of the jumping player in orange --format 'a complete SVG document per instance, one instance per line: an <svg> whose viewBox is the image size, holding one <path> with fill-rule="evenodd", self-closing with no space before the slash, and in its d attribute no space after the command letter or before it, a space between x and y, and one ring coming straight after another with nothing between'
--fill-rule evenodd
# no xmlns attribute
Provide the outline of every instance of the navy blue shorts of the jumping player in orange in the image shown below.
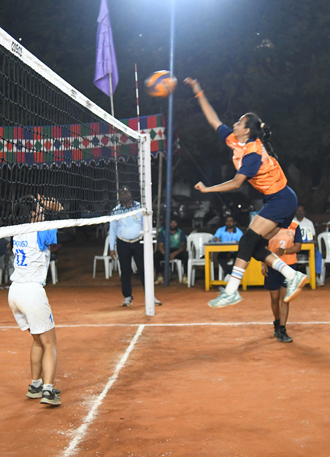
<svg viewBox="0 0 330 457"><path fill-rule="evenodd" d="M290 225L298 206L298 199L289 186L276 193L264 195L262 202L265 206L258 212L259 216L278 222L278 227L287 228Z"/></svg>

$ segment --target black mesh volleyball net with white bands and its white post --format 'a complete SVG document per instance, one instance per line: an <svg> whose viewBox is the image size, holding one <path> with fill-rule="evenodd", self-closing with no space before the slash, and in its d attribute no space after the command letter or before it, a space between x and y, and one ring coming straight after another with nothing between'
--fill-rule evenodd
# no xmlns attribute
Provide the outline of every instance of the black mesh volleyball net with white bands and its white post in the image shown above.
<svg viewBox="0 0 330 457"><path fill-rule="evenodd" d="M150 135L95 105L2 28L0 106L0 238L143 213L146 312L154 315ZM123 185L140 203L125 214L114 211ZM44 221L28 220L28 196L42 203Z"/></svg>

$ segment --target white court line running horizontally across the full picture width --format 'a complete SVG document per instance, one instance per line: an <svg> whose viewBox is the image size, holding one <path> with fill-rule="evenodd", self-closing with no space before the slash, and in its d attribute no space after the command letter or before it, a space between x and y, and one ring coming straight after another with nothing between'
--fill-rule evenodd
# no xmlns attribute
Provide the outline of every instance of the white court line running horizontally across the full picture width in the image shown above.
<svg viewBox="0 0 330 457"><path fill-rule="evenodd" d="M55 324L56 329L88 328L88 327L194 327L199 325L219 325L224 327L238 327L239 325L272 325L271 322L186 322L186 323L149 323L149 324ZM329 321L287 322L286 325L329 325ZM20 330L17 325L0 325L0 330Z"/></svg>

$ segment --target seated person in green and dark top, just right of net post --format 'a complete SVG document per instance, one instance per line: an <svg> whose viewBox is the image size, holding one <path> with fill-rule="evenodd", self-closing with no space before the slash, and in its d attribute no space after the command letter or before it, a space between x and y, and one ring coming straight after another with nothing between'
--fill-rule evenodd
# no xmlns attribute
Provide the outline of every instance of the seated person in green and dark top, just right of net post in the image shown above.
<svg viewBox="0 0 330 457"><path fill-rule="evenodd" d="M154 253L154 267L156 270L155 284L163 284L160 262L164 260L165 230L161 227L158 234L158 249ZM179 228L178 221L172 217L170 225L170 260L179 259L183 264L182 282L187 284L188 252L186 234Z"/></svg>

